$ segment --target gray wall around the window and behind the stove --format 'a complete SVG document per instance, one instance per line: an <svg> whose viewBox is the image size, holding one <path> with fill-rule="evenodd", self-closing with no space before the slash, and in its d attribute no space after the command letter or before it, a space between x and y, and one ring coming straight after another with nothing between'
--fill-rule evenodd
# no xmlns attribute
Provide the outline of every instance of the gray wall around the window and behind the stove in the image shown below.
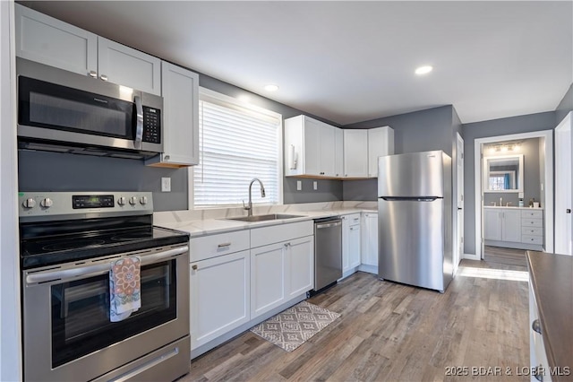
<svg viewBox="0 0 573 382"><path fill-rule="evenodd" d="M200 74L200 85L231 97L247 95L253 104L294 117L303 111L244 91L226 82ZM312 116L315 117L315 116ZM328 120L318 118L330 125ZM160 169L148 167L143 161L117 158L99 158L56 152L18 152L19 191L151 191L155 211L176 211L188 208L187 169ZM256 174L253 174L253 177ZM161 192L161 178L171 178L171 192ZM303 179L303 190L296 191L296 179L284 179L284 203L311 203L342 200L339 180ZM246 190L247 185L245 185Z"/></svg>

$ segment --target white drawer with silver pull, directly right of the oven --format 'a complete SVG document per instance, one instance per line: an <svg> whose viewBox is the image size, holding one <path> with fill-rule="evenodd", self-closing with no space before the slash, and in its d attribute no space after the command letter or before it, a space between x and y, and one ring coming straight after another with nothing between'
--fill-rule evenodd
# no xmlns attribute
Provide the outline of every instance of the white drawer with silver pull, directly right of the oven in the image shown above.
<svg viewBox="0 0 573 382"><path fill-rule="evenodd" d="M201 261L207 258L227 255L249 249L248 230L201 236L190 240L190 261Z"/></svg>

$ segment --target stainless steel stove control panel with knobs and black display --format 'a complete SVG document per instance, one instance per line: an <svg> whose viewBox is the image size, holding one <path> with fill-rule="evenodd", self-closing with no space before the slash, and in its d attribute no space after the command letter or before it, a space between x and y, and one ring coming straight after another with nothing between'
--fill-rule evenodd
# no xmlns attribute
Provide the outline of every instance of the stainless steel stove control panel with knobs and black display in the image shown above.
<svg viewBox="0 0 573 382"><path fill-rule="evenodd" d="M150 192L21 192L18 201L24 221L153 213Z"/></svg>

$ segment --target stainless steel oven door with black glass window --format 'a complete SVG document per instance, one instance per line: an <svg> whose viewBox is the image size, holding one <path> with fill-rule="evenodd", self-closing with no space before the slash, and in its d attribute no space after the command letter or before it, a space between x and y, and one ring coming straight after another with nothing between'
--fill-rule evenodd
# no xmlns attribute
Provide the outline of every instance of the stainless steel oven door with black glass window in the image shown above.
<svg viewBox="0 0 573 382"><path fill-rule="evenodd" d="M141 258L141 308L110 322L110 262L121 256ZM188 336L188 257L186 246L162 247L25 271L24 378L98 378Z"/></svg>

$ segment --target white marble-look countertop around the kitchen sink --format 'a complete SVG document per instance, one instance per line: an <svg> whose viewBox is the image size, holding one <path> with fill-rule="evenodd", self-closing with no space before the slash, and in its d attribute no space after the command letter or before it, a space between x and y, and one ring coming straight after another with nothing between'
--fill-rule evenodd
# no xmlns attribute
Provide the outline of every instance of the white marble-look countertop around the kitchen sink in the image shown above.
<svg viewBox="0 0 573 382"><path fill-rule="evenodd" d="M355 205L345 205L355 204ZM314 209L312 207L315 207ZM253 228L267 227L278 224L288 224L297 221L309 221L313 219L339 216L349 213L378 213L376 202L335 202L324 205L310 204L283 204L269 207L255 207L253 215L267 213L287 213L300 215L297 218L278 219L270 221L231 221L229 217L246 216L241 208L198 210L198 211L175 211L154 213L153 224L173 230L183 230L191 237L199 237L216 233L231 232L235 230L251 230Z"/></svg>

